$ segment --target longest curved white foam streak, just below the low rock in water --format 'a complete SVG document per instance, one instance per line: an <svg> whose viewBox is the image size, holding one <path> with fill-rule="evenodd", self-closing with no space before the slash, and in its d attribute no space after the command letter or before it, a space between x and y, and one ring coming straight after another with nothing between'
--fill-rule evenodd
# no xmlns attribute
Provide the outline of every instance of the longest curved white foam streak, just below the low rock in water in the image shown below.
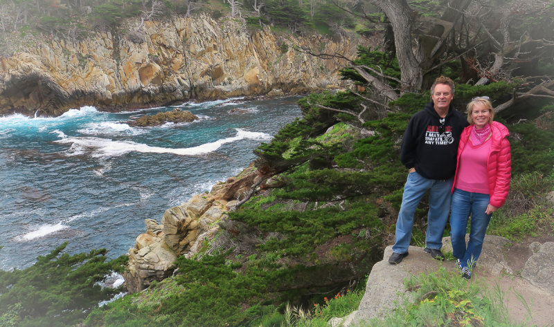
<svg viewBox="0 0 554 327"><path fill-rule="evenodd" d="M83 149L92 149L91 156L100 158L105 156L121 156L131 151L141 153L173 153L179 156L199 156L206 153L211 153L219 149L223 144L236 142L244 139L251 140L270 140L271 136L267 133L244 131L236 129L237 135L231 138L222 138L215 142L205 143L197 147L170 149L164 147L151 147L148 144L141 144L132 141L114 141L105 138L94 137L66 137L55 142L62 144L71 144L71 147L66 154L75 156L82 154Z"/></svg>

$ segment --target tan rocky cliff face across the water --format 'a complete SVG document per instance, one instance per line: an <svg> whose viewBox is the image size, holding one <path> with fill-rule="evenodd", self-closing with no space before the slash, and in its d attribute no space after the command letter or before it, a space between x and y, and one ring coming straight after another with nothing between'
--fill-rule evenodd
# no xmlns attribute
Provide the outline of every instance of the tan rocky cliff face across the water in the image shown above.
<svg viewBox="0 0 554 327"><path fill-rule="evenodd" d="M60 115L84 104L117 110L339 88L344 61L294 47L354 58L359 44L247 30L238 19L207 16L146 21L139 38L129 32L133 24L80 41L44 39L0 57L0 114Z"/></svg>

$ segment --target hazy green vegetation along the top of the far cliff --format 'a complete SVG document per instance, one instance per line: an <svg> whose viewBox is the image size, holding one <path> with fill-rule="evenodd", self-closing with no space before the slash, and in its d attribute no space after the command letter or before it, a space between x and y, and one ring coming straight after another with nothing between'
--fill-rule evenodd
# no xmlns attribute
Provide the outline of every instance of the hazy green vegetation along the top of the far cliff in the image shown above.
<svg viewBox="0 0 554 327"><path fill-rule="evenodd" d="M354 3L345 4L354 10ZM123 30L129 39L141 42L144 21L202 13L213 19L240 19L249 29L272 26L278 32L295 35L368 35L375 30L330 0L1 0L0 55L9 56L21 43L36 38L55 36L75 41L94 30Z"/></svg>

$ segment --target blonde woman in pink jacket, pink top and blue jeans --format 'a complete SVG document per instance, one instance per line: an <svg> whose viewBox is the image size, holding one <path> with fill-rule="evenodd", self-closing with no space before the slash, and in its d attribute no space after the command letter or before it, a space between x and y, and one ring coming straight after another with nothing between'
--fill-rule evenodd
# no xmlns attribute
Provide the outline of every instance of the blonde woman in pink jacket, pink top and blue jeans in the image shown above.
<svg viewBox="0 0 554 327"><path fill-rule="evenodd" d="M466 127L458 145L458 164L452 185L450 236L462 277L471 279L479 259L492 213L508 197L511 177L508 129L492 121L494 110L489 97L474 97L467 104ZM465 245L467 219L472 217L470 241Z"/></svg>

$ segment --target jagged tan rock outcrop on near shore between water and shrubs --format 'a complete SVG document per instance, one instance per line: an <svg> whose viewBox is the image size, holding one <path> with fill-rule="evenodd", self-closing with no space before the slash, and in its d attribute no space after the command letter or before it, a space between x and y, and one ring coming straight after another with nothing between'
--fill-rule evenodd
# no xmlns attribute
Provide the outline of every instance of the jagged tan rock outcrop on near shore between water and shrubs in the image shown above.
<svg viewBox="0 0 554 327"><path fill-rule="evenodd" d="M227 198L240 196L247 191L246 181L258 177L256 169L249 167L240 177L229 178L215 185L210 193L193 196L186 203L167 209L161 224L146 219L147 232L136 238L136 245L129 250L129 265L123 274L129 292L140 292L154 280L161 281L175 270L177 256L194 256L215 236L226 212L235 208L227 206ZM242 180L242 181L241 181ZM240 187L237 187L240 185ZM232 201L235 202L235 201Z"/></svg>

